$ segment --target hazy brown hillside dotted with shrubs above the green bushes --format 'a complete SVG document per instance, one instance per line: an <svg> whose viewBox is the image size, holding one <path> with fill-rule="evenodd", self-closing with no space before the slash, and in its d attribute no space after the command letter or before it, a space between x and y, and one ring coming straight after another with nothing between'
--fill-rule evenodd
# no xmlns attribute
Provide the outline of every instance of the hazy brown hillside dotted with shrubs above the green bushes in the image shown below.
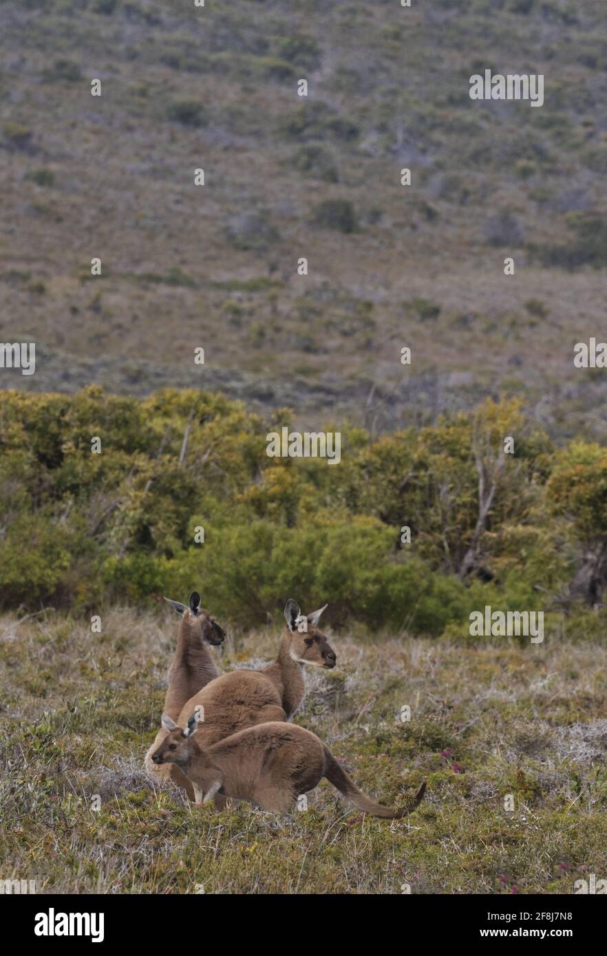
<svg viewBox="0 0 607 956"><path fill-rule="evenodd" d="M602 0L0 0L0 54L0 338L37 360L0 385L374 429L502 392L607 437L573 365L604 315ZM542 108L470 100L486 68L544 74Z"/></svg>

